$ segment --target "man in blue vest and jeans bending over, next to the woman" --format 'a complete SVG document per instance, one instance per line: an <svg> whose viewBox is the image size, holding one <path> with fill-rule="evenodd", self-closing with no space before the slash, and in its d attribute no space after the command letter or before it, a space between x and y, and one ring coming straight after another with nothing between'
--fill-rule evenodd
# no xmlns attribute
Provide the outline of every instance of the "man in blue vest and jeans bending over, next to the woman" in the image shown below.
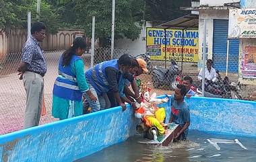
<svg viewBox="0 0 256 162"><path fill-rule="evenodd" d="M121 101L118 89L118 79L122 73L127 73L131 67L131 56L129 54L123 54L119 59L107 60L94 67L88 69L85 73L86 81L92 93L97 97L97 101L92 101L88 95L92 112L104 110L119 104L123 110L126 109L125 104ZM106 94L112 94L108 96Z"/></svg>

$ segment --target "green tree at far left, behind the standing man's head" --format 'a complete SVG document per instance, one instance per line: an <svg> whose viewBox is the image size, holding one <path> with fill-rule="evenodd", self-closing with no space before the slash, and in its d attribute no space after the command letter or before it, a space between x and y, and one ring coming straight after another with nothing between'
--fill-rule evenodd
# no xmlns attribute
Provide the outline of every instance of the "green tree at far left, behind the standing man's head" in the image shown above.
<svg viewBox="0 0 256 162"><path fill-rule="evenodd" d="M9 32L11 29L27 27L27 13L32 12L32 22L36 19L36 1L34 0L0 0L0 29ZM40 21L44 22L49 32L59 29L59 11L45 0L42 1Z"/></svg>

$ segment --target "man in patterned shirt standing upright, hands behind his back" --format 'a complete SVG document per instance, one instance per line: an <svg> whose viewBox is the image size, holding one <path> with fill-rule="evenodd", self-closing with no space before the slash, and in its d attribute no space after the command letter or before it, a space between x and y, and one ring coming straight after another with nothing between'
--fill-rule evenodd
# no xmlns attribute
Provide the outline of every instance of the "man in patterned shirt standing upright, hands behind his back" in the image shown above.
<svg viewBox="0 0 256 162"><path fill-rule="evenodd" d="M39 42L45 37L46 27L42 22L32 24L30 38L22 49L22 61L18 72L26 90L26 111L23 128L38 126L42 109L44 74L46 62Z"/></svg>

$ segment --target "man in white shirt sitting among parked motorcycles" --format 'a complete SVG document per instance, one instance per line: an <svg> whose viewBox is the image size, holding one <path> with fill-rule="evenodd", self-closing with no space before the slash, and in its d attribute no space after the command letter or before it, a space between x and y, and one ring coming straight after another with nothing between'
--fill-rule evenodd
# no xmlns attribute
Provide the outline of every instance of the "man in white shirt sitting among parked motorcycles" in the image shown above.
<svg viewBox="0 0 256 162"><path fill-rule="evenodd" d="M215 69L212 67L214 64L214 61L211 59L208 59L206 62L206 67L205 69L205 82L216 82L217 81L217 73ZM203 79L203 69L200 70L199 75L197 76L199 81Z"/></svg>

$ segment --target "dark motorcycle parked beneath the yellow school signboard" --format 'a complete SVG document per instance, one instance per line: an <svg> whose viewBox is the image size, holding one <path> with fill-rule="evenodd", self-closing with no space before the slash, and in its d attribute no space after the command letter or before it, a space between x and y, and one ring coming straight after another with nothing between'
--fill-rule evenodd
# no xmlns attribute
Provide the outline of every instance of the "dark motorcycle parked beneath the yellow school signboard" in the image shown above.
<svg viewBox="0 0 256 162"><path fill-rule="evenodd" d="M152 72L153 86L158 88L162 85L167 85L170 90L174 90L177 84L181 82L181 77L178 77L179 73L179 67L175 60L171 60L168 69L159 66L154 67Z"/></svg>

